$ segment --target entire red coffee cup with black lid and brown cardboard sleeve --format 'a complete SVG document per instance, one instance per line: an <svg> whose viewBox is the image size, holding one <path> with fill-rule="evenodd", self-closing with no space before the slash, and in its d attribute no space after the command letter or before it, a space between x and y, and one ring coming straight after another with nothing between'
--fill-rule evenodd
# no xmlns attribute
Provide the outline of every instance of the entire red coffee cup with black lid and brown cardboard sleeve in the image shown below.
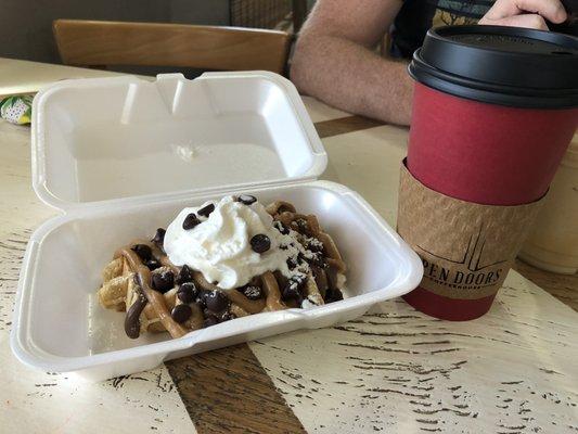
<svg viewBox="0 0 578 434"><path fill-rule="evenodd" d="M578 125L578 39L442 27L428 31L409 72L415 89L398 231L422 257L425 277L404 298L438 318L477 318Z"/></svg>

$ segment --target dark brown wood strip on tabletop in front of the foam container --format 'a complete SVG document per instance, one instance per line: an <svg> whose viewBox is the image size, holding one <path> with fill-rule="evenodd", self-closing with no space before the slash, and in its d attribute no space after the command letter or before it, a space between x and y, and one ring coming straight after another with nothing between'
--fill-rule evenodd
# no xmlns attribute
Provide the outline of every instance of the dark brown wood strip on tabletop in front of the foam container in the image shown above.
<svg viewBox="0 0 578 434"><path fill-rule="evenodd" d="M198 433L306 433L247 344L166 366Z"/></svg>

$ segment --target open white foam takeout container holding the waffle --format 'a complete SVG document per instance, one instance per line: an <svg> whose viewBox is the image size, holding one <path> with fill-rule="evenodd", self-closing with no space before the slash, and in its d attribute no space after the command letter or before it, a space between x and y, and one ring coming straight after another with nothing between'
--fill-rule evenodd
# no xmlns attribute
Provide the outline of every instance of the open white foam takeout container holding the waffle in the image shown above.
<svg viewBox="0 0 578 434"><path fill-rule="evenodd" d="M294 86L264 72L67 80L33 107L33 182L62 210L31 235L12 349L26 365L98 381L163 360L296 329L332 326L402 295L418 256L357 193L317 181L327 156ZM349 267L346 299L259 314L178 340L125 335L95 296L114 251L150 238L184 206L247 192L312 213Z"/></svg>

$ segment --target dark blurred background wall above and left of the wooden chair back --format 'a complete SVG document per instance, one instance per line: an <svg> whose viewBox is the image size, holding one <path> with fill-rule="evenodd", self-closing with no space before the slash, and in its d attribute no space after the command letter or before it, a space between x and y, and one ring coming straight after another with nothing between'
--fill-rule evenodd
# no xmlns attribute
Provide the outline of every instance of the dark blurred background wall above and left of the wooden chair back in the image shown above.
<svg viewBox="0 0 578 434"><path fill-rule="evenodd" d="M312 0L0 0L0 56L60 63L52 36L56 18L108 20L293 31Z"/></svg>

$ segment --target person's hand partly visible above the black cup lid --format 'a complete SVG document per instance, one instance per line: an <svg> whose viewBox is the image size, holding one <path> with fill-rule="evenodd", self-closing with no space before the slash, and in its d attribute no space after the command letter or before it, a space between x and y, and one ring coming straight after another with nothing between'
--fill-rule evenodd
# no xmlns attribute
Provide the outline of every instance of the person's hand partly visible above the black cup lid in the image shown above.
<svg viewBox="0 0 578 434"><path fill-rule="evenodd" d="M566 17L560 0L496 0L478 24L548 30L545 20L560 24Z"/></svg>

